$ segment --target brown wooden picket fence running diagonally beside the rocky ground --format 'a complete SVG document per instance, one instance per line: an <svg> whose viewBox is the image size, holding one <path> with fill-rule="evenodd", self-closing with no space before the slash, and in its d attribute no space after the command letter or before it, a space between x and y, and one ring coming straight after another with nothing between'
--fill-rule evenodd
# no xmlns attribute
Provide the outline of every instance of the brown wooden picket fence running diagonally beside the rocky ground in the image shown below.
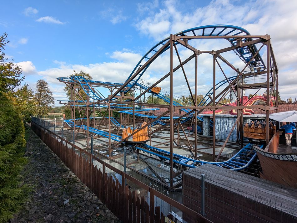
<svg viewBox="0 0 297 223"><path fill-rule="evenodd" d="M179 209L183 213L183 216L187 219L192 219L192 222L210 222L194 210L167 197L112 165L105 163L103 160L73 145L71 142L50 132L34 121L32 121L32 130L123 222L164 222L164 214L160 213L160 206L155 205L155 197ZM94 166L93 160L101 163L102 169ZM126 180L131 181L149 192L149 200L144 196L138 196L135 190L131 191L128 185L121 184L118 179L114 180L113 176L108 176L105 168L119 174L122 178L121 182L126 182ZM165 214L170 219L175 220L169 213Z"/></svg>

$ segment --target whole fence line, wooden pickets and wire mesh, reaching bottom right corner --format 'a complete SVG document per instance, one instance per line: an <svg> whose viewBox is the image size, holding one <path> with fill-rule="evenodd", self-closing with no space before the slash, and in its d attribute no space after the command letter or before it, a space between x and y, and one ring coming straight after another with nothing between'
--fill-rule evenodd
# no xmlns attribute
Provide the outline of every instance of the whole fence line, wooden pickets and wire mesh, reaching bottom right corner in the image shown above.
<svg viewBox="0 0 297 223"><path fill-rule="evenodd" d="M109 147L108 139L34 117L32 129L123 222L275 222L279 216L279 222L297 220L294 207L212 180L210 174L195 181L174 166L171 181L168 163L154 156ZM254 216L255 211L259 215Z"/></svg>

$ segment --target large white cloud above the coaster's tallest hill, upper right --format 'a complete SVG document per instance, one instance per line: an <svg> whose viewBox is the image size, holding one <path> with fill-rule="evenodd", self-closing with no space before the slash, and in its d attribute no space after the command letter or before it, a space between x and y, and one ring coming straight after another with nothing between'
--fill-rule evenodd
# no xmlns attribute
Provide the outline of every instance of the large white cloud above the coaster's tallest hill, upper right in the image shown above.
<svg viewBox="0 0 297 223"><path fill-rule="evenodd" d="M295 20L297 13L296 1L246 1L244 3L229 0L213 0L204 7L195 7L190 10L183 10L183 2L168 0L161 3L157 11L154 8L145 8L144 10L153 11L138 18L134 26L141 34L145 34L159 42L169 36L185 29L211 24L231 24L247 29L252 35L269 34L272 39L274 54L279 65L279 91L284 98L289 97L297 91L297 53L294 46L297 44L295 34L297 33L297 23ZM142 6L142 5L140 5ZM141 8L139 9L141 12ZM140 16L142 16L140 14ZM193 44L193 41L189 41ZM198 48L220 49L220 43L212 41L201 41ZM265 48L265 47L264 47ZM201 55L199 56L201 57ZM265 61L266 55L262 54ZM231 57L229 61L241 67L241 61L238 58ZM199 59L200 61L201 59ZM265 61L266 63L266 61ZM212 66L207 67L208 63L199 66L203 74L212 79ZM152 63L151 66L154 66ZM232 71L229 73L232 75ZM147 76L149 77L149 75ZM289 90L288 90L289 89Z"/></svg>

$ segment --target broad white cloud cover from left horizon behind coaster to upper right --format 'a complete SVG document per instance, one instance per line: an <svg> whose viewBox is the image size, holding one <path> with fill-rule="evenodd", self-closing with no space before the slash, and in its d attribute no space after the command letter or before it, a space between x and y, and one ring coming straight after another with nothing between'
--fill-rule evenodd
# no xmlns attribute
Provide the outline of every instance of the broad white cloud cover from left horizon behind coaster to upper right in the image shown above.
<svg viewBox="0 0 297 223"><path fill-rule="evenodd" d="M158 2L155 1L154 4L156 3ZM269 4L266 1L255 1L253 4L251 4L251 2L242 5L234 4L235 3L230 1L218 0L212 1L205 7L193 7L192 11L184 12L180 9L179 2L166 1L157 12L151 11L149 16L140 20L138 24L135 24L135 27L140 33L153 38L155 43L168 37L171 33L177 33L200 25L219 23L241 26L254 35L263 35L267 33L271 35L274 53L280 68L280 95L284 99L289 96L295 97L294 92L297 91L297 79L294 79L294 77L297 76L297 64L295 63L297 53L292 46L297 44L297 39L294 37L294 33L297 33L297 23L295 24L290 21L294 21L294 15L297 13L297 2L292 3L290 7L288 6L288 3L281 3L279 1L271 1ZM144 8L146 11L151 9L155 9L154 6L147 5L147 9ZM113 12L113 10L109 12L104 11L106 15L112 15ZM102 13L103 17L104 13ZM111 17L113 16L106 18L109 20ZM211 50L229 46L228 41L223 41L225 40L192 40L189 41L189 44L200 50ZM189 57L189 50L186 50L179 45L178 49L182 60ZM63 92L64 84L58 82L58 80L56 80L57 77L67 77L73 73L73 70L76 70L77 72L84 70L93 76L93 80L124 82L143 54L144 53L139 54L123 49L111 53L111 61L109 62L88 65L68 64L66 62L54 61L56 67L38 71L37 74L48 81L51 89L53 89L56 99L62 100L66 99L66 96L63 97L63 94L61 93ZM263 57L264 56L265 55L263 55ZM243 68L243 62L239 60L233 52L224 54L224 57L236 65L236 67ZM179 62L174 54L174 66L178 64ZM212 87L212 56L209 54L199 55L198 64L198 93L205 95L205 93ZM223 62L220 62L220 64L227 76L234 75L234 71L230 69L228 70L227 65L224 65ZM28 67L32 68L33 66ZM184 68L193 90L194 62L185 65ZM34 70L35 67L32 71ZM163 53L150 65L142 79L154 83L168 72L169 50ZM216 76L217 81L223 79L223 75L218 67ZM168 91L169 79L163 81L159 86ZM174 90L174 94L177 96L189 95L181 70L174 74Z"/></svg>

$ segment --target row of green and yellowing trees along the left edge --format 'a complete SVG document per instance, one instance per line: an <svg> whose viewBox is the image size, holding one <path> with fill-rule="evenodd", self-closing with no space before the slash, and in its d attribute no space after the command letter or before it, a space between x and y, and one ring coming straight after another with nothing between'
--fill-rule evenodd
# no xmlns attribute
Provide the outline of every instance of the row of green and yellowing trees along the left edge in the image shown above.
<svg viewBox="0 0 297 223"><path fill-rule="evenodd" d="M21 171L27 158L26 139L32 115L46 115L54 105L48 83L41 79L33 91L22 70L8 60L4 50L9 43L7 34L0 36L0 222L8 222L28 200L31 186L23 183Z"/></svg>

